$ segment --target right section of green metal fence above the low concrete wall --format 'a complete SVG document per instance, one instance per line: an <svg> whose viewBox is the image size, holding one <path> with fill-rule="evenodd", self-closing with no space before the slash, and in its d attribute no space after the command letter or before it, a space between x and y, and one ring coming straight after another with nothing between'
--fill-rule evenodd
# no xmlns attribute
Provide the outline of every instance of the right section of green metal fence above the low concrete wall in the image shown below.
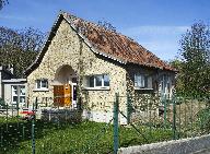
<svg viewBox="0 0 210 154"><path fill-rule="evenodd" d="M127 137L129 140L125 142L124 138L127 132L120 131L119 127L119 146L198 137L210 131L210 99L208 96L159 97L128 94L118 97L127 98L127 110L119 109L119 115L127 119L128 126L126 127L137 132L137 135L130 133Z"/></svg>

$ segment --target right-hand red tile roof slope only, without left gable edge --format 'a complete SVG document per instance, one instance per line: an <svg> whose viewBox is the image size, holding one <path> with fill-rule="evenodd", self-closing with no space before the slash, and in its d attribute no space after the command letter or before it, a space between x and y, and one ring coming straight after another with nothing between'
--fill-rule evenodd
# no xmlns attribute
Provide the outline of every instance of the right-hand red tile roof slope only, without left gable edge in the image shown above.
<svg viewBox="0 0 210 154"><path fill-rule="evenodd" d="M124 63L154 67L175 71L174 68L162 61L151 51L119 33L108 31L94 23L84 21L69 13L62 12L63 17L82 34L91 45L108 57L118 59Z"/></svg>

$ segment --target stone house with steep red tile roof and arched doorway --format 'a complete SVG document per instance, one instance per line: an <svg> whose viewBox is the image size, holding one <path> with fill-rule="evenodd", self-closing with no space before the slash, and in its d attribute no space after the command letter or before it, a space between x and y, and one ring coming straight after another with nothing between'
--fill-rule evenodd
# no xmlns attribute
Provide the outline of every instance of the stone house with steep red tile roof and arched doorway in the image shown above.
<svg viewBox="0 0 210 154"><path fill-rule="evenodd" d="M170 96L175 70L131 38L61 12L25 74L30 103L75 107L81 98L84 115L108 121L116 93L121 110L127 94Z"/></svg>

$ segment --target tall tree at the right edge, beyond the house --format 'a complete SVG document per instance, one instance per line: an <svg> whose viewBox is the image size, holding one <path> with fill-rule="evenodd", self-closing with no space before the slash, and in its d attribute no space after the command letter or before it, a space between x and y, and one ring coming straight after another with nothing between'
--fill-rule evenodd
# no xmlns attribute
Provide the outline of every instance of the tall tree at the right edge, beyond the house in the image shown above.
<svg viewBox="0 0 210 154"><path fill-rule="evenodd" d="M184 91L210 92L210 28L196 23L180 39L183 58L182 81Z"/></svg>

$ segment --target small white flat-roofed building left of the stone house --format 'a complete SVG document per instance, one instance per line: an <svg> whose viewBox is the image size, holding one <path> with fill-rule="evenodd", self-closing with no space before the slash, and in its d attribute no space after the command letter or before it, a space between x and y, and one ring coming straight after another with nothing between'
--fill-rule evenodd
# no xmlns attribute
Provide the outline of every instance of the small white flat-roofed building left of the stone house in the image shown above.
<svg viewBox="0 0 210 154"><path fill-rule="evenodd" d="M15 79L13 69L0 67L0 97L9 105L26 103L26 79Z"/></svg>

